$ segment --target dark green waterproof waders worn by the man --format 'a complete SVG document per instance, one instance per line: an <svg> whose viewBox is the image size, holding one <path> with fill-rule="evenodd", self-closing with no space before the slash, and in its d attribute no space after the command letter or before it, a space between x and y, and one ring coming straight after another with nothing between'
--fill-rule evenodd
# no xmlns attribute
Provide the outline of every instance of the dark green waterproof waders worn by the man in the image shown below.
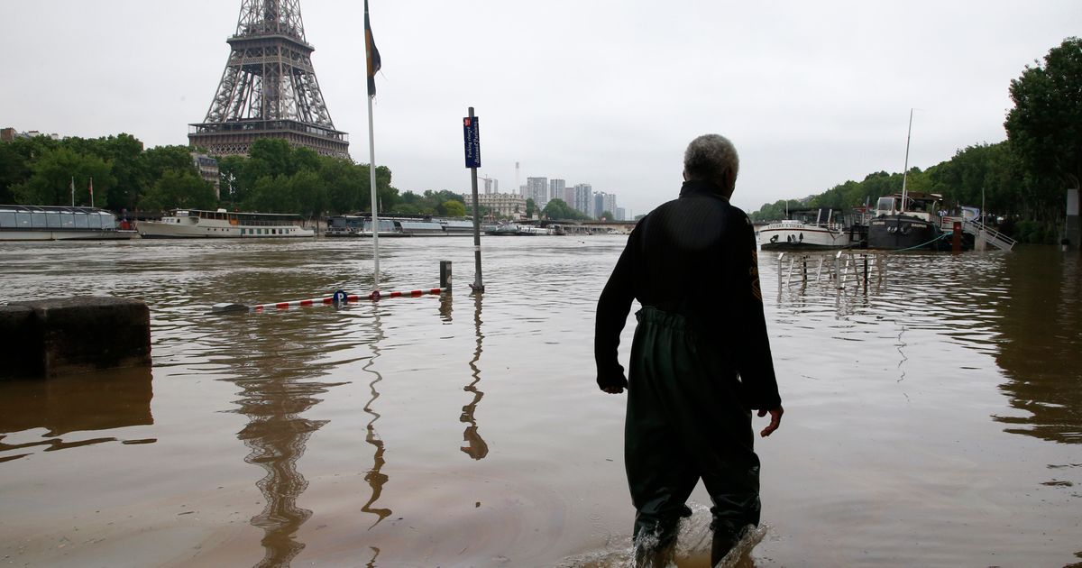
<svg viewBox="0 0 1082 568"><path fill-rule="evenodd" d="M684 317L645 306L631 347L624 464L636 549L675 542L701 477L715 539L758 525L758 457L751 410L723 345L703 343ZM657 539L657 541L654 541Z"/></svg>

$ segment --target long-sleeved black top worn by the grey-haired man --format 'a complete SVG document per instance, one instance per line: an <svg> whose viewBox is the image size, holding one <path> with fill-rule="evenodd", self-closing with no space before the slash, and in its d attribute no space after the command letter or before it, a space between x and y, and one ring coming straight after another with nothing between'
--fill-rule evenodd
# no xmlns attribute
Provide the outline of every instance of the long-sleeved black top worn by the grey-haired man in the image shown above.
<svg viewBox="0 0 1082 568"><path fill-rule="evenodd" d="M679 198L639 220L597 301L597 384L625 386L617 359L632 300L684 316L713 355L718 380L739 380L748 408L781 405L758 283L755 230L721 189L685 182Z"/></svg>

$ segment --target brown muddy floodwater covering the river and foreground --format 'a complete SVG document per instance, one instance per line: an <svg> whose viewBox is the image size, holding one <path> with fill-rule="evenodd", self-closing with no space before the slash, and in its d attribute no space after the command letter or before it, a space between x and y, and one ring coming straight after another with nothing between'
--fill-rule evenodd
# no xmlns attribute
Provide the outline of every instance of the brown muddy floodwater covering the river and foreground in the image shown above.
<svg viewBox="0 0 1082 568"><path fill-rule="evenodd" d="M230 315L367 292L371 243L0 243L0 301L141 299L154 344L0 382L0 565L621 565L623 399L591 346L623 240L487 238L475 299L470 239L385 239L384 290L449 260L456 293ZM761 261L787 412L743 566L1082 563L1077 255L892 255L840 293Z"/></svg>

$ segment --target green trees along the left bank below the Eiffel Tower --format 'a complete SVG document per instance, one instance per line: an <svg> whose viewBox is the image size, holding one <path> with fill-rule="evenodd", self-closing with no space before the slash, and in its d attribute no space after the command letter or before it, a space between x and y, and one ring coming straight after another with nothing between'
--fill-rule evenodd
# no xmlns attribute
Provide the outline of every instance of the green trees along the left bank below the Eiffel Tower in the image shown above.
<svg viewBox="0 0 1082 568"><path fill-rule="evenodd" d="M371 211L371 177L365 163L320 156L283 140L259 140L247 157L219 159L215 196L213 185L200 177L192 151L187 146L144 149L130 134L16 138L0 144L0 203L90 206L92 183L93 204L118 212L222 207L318 219ZM388 168L375 169L380 212L462 217L470 211L458 193L399 191L391 179ZM489 214L480 209L481 215ZM550 219L589 219L559 200L539 212Z"/></svg>

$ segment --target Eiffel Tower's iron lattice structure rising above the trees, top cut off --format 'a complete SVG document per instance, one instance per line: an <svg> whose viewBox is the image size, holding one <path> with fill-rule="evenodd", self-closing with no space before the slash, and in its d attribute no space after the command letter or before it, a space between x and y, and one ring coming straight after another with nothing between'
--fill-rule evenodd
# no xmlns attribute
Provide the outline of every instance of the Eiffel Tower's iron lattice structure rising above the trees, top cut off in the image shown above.
<svg viewBox="0 0 1082 568"><path fill-rule="evenodd" d="M241 0L237 32L217 93L188 143L212 156L247 155L260 138L282 138L348 158L349 135L331 122L304 37L300 0Z"/></svg>

